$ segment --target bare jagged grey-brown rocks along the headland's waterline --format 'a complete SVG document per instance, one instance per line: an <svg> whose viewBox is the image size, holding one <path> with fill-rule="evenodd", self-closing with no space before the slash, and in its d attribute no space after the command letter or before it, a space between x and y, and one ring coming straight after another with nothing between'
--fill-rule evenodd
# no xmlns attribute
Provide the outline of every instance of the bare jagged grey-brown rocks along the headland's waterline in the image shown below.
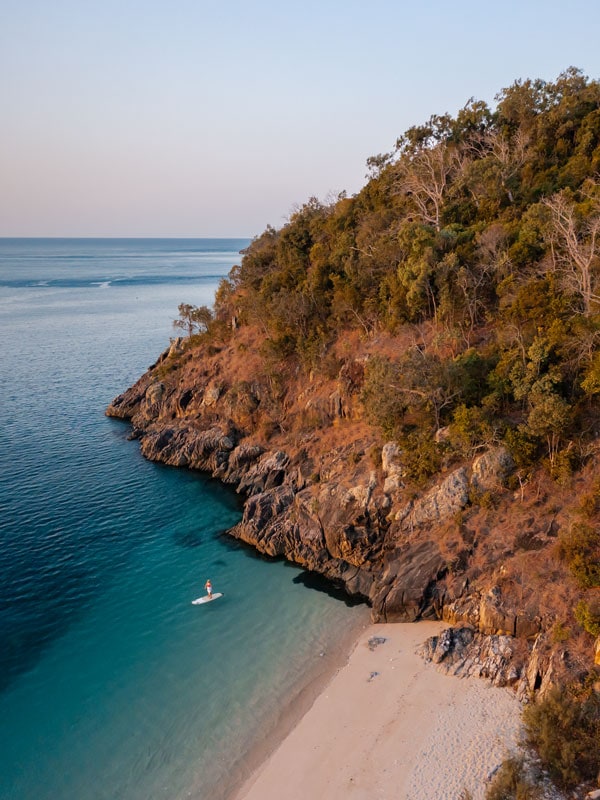
<svg viewBox="0 0 600 800"><path fill-rule="evenodd" d="M174 344L157 364L181 352ZM522 691L551 685L557 668L539 648L534 647L528 670L515 655L538 636L541 620L508 607L493 587L483 592L470 586L460 570L450 577L448 556L436 541L439 526L465 509L474 494L501 491L514 468L504 448L484 453L471 468L454 470L406 502L402 453L395 443L382 448L380 470L363 464L354 471L347 449L345 455L313 452L311 458L301 449L291 449L291 455L266 450L243 427L244 415L262 402L264 387L238 383L227 389L218 370L199 373L193 385L175 385L161 379L165 369L142 376L107 413L131 420L147 458L208 472L245 495L233 536L368 599L375 621L442 618L457 626L458 633L432 645L428 656L448 671L486 676L499 685L517 683ZM350 362L325 405L309 401L307 407L341 420L363 377L363 364Z"/></svg>

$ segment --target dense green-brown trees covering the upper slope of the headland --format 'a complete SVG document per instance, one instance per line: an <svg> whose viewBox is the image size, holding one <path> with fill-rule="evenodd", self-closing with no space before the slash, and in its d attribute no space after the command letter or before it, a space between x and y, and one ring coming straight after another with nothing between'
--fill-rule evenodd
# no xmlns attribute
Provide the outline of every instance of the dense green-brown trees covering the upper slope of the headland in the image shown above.
<svg viewBox="0 0 600 800"><path fill-rule="evenodd" d="M416 480L500 440L560 479L599 433L600 83L571 68L497 101L410 128L356 196L254 239L217 293L213 328L260 325L265 359L306 372L334 369L349 329L409 332L363 397Z"/></svg>

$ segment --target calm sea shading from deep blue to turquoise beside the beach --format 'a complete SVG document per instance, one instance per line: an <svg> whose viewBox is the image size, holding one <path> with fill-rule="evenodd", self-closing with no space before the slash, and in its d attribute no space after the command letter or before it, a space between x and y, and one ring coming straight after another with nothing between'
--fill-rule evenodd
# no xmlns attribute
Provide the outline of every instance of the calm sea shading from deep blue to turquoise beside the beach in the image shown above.
<svg viewBox="0 0 600 800"><path fill-rule="evenodd" d="M223 535L240 499L151 464L108 402L247 240L0 239L0 797L227 795L363 610ZM193 606L210 577L225 596Z"/></svg>

